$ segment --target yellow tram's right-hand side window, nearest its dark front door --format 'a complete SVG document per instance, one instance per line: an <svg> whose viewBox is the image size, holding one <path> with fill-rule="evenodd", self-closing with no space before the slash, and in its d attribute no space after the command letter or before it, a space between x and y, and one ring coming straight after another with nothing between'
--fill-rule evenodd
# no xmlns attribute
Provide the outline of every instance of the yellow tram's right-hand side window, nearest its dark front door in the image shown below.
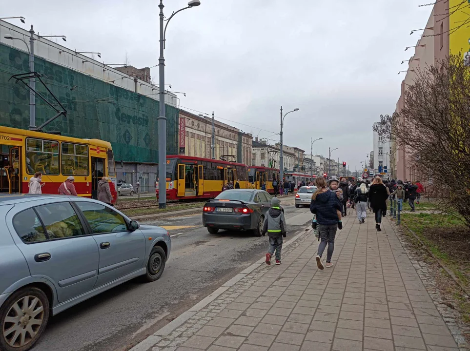
<svg viewBox="0 0 470 351"><path fill-rule="evenodd" d="M62 174L64 176L88 176L88 146L61 143Z"/></svg>

